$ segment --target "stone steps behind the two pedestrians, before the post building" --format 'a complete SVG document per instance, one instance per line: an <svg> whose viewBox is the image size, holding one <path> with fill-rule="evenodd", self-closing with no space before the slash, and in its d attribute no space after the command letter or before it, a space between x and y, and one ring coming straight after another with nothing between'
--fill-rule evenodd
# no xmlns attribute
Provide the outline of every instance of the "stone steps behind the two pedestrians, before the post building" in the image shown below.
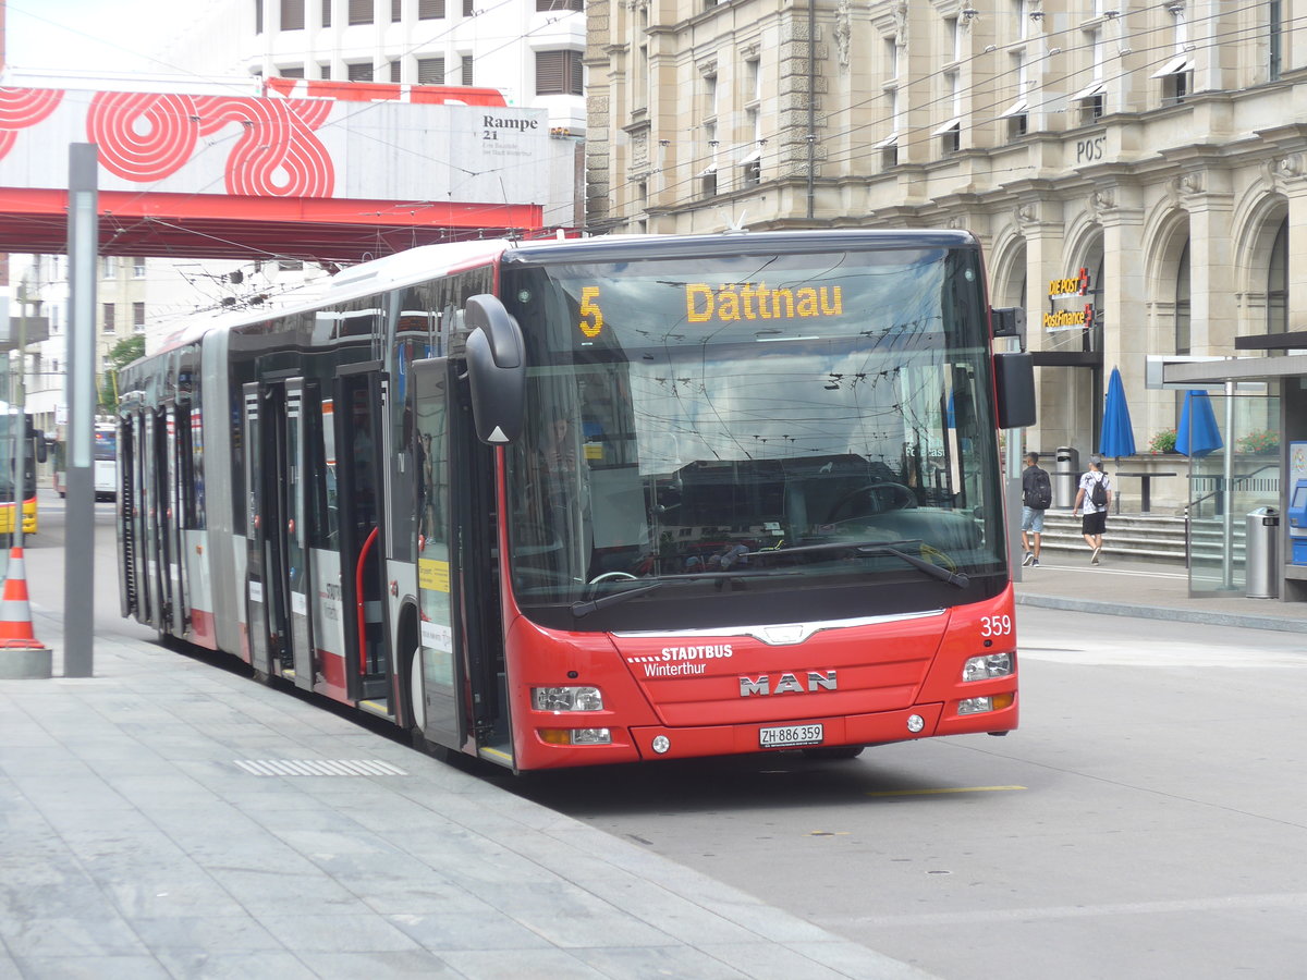
<svg viewBox="0 0 1307 980"><path fill-rule="evenodd" d="M1234 521L1234 561L1243 563L1244 517L1238 515ZM1218 517L1197 521L1193 527L1193 554L1202 561L1221 561L1221 520ZM1070 511L1052 510L1044 512L1044 534L1042 554L1052 561L1087 561L1089 549L1080 533L1080 517ZM1117 559L1141 562L1162 562L1184 567L1184 517L1161 514L1112 514L1107 519L1107 533L1103 536L1103 554Z"/></svg>

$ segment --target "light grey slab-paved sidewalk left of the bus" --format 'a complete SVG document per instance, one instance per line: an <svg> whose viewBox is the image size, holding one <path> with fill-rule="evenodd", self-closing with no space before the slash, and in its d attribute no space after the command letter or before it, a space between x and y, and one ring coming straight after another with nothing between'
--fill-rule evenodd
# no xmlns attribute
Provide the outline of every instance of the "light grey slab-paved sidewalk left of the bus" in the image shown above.
<svg viewBox="0 0 1307 980"><path fill-rule="evenodd" d="M0 681L0 976L923 977L298 698L125 636ZM3 652L0 652L3 656Z"/></svg>

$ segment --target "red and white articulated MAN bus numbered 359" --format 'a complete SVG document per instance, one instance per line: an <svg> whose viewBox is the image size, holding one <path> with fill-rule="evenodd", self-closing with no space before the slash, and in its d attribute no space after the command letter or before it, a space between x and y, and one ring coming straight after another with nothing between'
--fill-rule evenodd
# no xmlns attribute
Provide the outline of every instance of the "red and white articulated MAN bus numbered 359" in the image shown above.
<svg viewBox="0 0 1307 980"><path fill-rule="evenodd" d="M515 771L1006 733L1014 321L953 231L359 265L123 370L123 613Z"/></svg>

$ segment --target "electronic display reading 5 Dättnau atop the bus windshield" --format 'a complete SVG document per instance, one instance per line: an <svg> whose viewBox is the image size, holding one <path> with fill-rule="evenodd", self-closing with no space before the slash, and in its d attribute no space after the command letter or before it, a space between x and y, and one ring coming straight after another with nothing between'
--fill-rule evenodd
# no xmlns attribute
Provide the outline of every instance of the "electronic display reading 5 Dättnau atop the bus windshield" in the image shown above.
<svg viewBox="0 0 1307 980"><path fill-rule="evenodd" d="M765 358L795 345L983 345L982 274L974 252L948 247L652 255L506 268L503 291L508 312L537 324L527 340L541 355L745 344Z"/></svg>

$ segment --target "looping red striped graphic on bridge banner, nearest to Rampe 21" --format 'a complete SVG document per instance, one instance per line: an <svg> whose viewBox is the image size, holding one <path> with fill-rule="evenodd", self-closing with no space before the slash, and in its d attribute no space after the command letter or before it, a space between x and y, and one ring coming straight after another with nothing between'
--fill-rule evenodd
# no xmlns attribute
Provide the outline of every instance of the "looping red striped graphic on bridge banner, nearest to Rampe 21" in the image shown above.
<svg viewBox="0 0 1307 980"><path fill-rule="evenodd" d="M254 197L331 197L336 169L314 135L332 103L221 95L196 99L207 136L231 122L244 127L227 158L227 192Z"/></svg>

